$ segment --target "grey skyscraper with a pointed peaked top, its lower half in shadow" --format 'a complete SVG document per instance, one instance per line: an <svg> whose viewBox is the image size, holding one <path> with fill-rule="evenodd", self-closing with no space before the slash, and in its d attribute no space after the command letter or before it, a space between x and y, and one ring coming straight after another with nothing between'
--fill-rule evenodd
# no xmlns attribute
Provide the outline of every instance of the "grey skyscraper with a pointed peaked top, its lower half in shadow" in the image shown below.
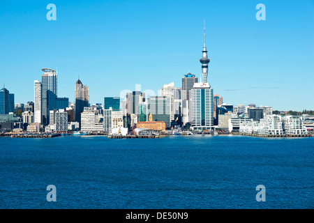
<svg viewBox="0 0 314 223"><path fill-rule="evenodd" d="M75 121L79 123L84 107L89 107L89 87L78 79L75 83Z"/></svg>

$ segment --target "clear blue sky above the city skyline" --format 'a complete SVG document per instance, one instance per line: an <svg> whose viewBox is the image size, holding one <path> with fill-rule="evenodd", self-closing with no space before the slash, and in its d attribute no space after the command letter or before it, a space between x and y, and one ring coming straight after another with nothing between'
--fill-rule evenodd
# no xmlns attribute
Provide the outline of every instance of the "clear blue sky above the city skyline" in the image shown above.
<svg viewBox="0 0 314 223"><path fill-rule="evenodd" d="M48 21L48 3L57 20ZM257 21L257 3L266 20ZM229 104L314 109L314 1L0 1L0 84L33 101L42 68L74 101L78 75L91 104L124 89L156 91L200 77L206 19L208 80Z"/></svg>

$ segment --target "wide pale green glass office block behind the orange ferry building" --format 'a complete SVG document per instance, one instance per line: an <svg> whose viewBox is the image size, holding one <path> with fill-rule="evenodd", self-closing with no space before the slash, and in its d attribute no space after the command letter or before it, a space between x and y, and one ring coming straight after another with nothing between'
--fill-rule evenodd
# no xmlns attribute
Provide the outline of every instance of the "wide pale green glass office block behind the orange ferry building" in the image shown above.
<svg viewBox="0 0 314 223"><path fill-rule="evenodd" d="M171 126L170 122L170 99L165 96L151 96L147 100L147 112L153 121L163 121L166 127Z"/></svg>

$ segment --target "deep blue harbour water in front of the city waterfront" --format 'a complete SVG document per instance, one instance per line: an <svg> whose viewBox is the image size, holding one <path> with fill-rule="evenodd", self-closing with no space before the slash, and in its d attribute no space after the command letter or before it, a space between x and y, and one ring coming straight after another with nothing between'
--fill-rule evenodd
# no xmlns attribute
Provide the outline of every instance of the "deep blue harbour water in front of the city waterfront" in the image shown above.
<svg viewBox="0 0 314 223"><path fill-rule="evenodd" d="M314 138L0 138L0 208L314 208ZM48 202L47 185L57 187ZM257 202L257 185L266 201Z"/></svg>

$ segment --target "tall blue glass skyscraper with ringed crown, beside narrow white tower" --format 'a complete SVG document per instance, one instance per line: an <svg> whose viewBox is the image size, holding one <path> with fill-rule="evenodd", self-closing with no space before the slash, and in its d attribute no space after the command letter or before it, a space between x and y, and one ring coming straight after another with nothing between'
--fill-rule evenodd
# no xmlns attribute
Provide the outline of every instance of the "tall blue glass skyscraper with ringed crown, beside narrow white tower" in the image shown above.
<svg viewBox="0 0 314 223"><path fill-rule="evenodd" d="M57 108L57 71L42 69L41 76L41 116L43 125L49 124L49 111Z"/></svg>

